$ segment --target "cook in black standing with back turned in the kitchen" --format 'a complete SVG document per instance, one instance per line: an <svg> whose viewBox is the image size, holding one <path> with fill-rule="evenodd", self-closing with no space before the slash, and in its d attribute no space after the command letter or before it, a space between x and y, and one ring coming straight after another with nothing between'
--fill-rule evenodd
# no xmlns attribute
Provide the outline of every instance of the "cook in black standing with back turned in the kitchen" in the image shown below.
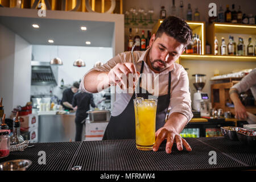
<svg viewBox="0 0 256 182"><path fill-rule="evenodd" d="M73 97L72 106L77 107L76 110L76 141L82 139L83 121L88 116L86 113L90 109L90 105L95 107L93 95L90 93L79 91ZM82 123L81 123L82 122Z"/></svg>

